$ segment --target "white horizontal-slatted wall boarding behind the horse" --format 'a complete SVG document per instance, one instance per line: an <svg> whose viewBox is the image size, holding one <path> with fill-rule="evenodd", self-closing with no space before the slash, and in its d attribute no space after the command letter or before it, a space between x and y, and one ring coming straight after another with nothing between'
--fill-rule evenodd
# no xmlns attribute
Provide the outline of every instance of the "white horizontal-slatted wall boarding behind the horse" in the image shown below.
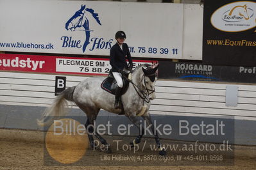
<svg viewBox="0 0 256 170"><path fill-rule="evenodd" d="M47 106L55 98L55 76L34 73L0 72L0 104ZM61 75L65 76L65 75ZM67 87L87 79L67 75ZM237 107L225 106L227 84L157 81L157 98L151 102L152 114L179 116L234 116L256 119L256 86L237 84ZM74 105L70 103L70 105ZM73 108L77 108L73 106Z"/></svg>

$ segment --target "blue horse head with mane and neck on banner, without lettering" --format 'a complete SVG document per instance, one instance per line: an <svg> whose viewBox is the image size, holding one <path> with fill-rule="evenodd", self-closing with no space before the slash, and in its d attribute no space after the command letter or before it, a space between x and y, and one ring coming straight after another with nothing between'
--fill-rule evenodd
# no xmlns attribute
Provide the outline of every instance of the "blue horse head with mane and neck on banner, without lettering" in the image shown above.
<svg viewBox="0 0 256 170"><path fill-rule="evenodd" d="M87 18L87 13L89 12L90 15L96 20L96 22L101 25L101 22L98 17L98 13L95 13L94 10L90 8L85 8L85 5L81 5L80 10L74 13L74 15L67 20L65 24L65 29L71 30L71 31L85 31L85 42L83 43L83 52L85 52L85 49L87 45L90 43L90 32L93 30L90 30L89 25L89 19Z"/></svg>

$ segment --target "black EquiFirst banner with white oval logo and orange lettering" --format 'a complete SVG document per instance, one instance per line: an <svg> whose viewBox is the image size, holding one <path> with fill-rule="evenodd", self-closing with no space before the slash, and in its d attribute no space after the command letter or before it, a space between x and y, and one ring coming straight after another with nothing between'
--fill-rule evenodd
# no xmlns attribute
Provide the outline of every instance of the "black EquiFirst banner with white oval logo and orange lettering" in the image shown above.
<svg viewBox="0 0 256 170"><path fill-rule="evenodd" d="M205 0L203 63L256 65L256 1Z"/></svg>

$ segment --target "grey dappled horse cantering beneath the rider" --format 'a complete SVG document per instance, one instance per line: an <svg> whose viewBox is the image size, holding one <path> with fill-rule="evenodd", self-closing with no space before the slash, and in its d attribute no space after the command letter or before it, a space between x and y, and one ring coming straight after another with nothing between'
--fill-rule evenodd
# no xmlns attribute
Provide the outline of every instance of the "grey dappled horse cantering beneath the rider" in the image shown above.
<svg viewBox="0 0 256 170"><path fill-rule="evenodd" d="M157 130L155 130L155 127L151 122L149 107L150 100L155 98L155 82L157 81L155 72L157 71L157 68L158 65L154 68L147 64L135 68L132 72L132 81L130 81L130 86L126 93L121 96L125 116L127 116L134 125L140 129L141 121L139 121L139 118L137 117L139 114L144 118L146 123L151 126L153 133L157 132ZM88 128L88 131L90 132L88 133L88 136L90 146L93 148L94 139L92 132L94 132L94 127L92 125L98 116L99 110L104 109L105 111L116 114L119 114L122 111L121 109L114 109L115 96L101 88L101 82L103 82L104 79L105 77L90 77L85 79L85 81L80 82L77 86L73 86L72 88L67 88L62 91L62 93L55 98L53 104L46 109L42 115L42 120L38 120L38 125L50 125L53 123L53 120L60 118L60 116L64 116L66 100L72 101L76 103L76 105L78 105L85 114L87 114L85 127L87 128L90 125ZM47 120L47 116L51 116L51 118L48 118ZM142 129L139 130L140 134L130 143L132 147L141 142L142 135L144 134L144 127L141 126L141 128ZM107 141L105 141L101 135L97 132L95 132L94 135L96 135L102 144L108 147ZM159 154L166 155L166 151L160 144L158 134L155 133L154 135Z"/></svg>

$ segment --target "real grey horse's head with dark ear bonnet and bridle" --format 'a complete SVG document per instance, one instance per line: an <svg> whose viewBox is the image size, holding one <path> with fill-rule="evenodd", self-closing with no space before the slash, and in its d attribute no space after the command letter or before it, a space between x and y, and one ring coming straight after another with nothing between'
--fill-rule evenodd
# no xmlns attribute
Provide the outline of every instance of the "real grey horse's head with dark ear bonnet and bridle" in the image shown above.
<svg viewBox="0 0 256 170"><path fill-rule="evenodd" d="M158 69L158 65L157 66L147 65L146 68L142 67L142 70L144 72L144 75L141 78L142 86L146 88L146 91L149 94L150 100L153 100L154 98L156 98L155 82L157 81L157 76L156 76L157 69Z"/></svg>

